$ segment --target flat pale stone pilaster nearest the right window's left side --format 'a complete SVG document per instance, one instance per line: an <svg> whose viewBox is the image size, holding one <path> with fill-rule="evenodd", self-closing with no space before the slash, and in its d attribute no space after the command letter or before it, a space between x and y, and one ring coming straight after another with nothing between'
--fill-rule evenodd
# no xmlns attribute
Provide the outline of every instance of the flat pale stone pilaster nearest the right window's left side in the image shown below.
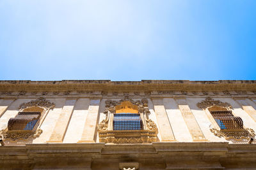
<svg viewBox="0 0 256 170"><path fill-rule="evenodd" d="M175 101L179 106L180 112L186 122L193 141L207 141L198 123L196 122L196 118L190 110L186 99L176 99Z"/></svg>

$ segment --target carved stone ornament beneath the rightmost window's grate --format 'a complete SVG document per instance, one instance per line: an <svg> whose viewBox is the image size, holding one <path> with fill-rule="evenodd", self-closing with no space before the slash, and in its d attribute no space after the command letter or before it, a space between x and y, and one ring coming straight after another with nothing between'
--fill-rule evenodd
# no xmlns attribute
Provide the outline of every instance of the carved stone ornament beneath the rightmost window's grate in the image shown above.
<svg viewBox="0 0 256 170"><path fill-rule="evenodd" d="M241 129L239 131L235 131L232 129L228 130L218 130L215 128L210 129L211 132L215 135L221 138L222 136L225 139L235 139L235 140L241 140L241 139L250 139L250 136L255 136L255 131L253 129Z"/></svg>

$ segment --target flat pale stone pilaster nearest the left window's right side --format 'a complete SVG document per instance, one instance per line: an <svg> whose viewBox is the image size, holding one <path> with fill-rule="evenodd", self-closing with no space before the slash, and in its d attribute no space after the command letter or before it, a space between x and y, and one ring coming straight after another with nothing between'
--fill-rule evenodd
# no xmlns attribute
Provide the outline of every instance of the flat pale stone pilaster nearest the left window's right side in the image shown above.
<svg viewBox="0 0 256 170"><path fill-rule="evenodd" d="M47 143L62 143L67 131L68 123L73 113L76 99L67 99L65 105L61 110L60 117L58 118L51 137Z"/></svg>

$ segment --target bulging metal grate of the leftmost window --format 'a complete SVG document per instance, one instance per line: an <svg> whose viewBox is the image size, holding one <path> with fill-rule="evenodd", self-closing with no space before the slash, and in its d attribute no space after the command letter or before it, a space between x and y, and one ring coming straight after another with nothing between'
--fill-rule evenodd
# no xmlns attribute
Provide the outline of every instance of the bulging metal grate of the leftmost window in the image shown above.
<svg viewBox="0 0 256 170"><path fill-rule="evenodd" d="M40 112L19 112L15 118L8 121L8 130L32 131L40 115Z"/></svg>

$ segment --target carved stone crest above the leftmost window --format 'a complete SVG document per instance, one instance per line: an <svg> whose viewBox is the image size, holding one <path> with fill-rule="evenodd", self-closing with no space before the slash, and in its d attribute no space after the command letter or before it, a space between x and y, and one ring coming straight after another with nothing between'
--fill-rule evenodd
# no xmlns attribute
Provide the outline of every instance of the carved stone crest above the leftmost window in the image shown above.
<svg viewBox="0 0 256 170"><path fill-rule="evenodd" d="M39 106L45 109L53 109L55 107L55 103L50 103L44 97L39 97L35 101L30 101L29 103L22 103L20 104L19 109L26 109L34 106Z"/></svg>

